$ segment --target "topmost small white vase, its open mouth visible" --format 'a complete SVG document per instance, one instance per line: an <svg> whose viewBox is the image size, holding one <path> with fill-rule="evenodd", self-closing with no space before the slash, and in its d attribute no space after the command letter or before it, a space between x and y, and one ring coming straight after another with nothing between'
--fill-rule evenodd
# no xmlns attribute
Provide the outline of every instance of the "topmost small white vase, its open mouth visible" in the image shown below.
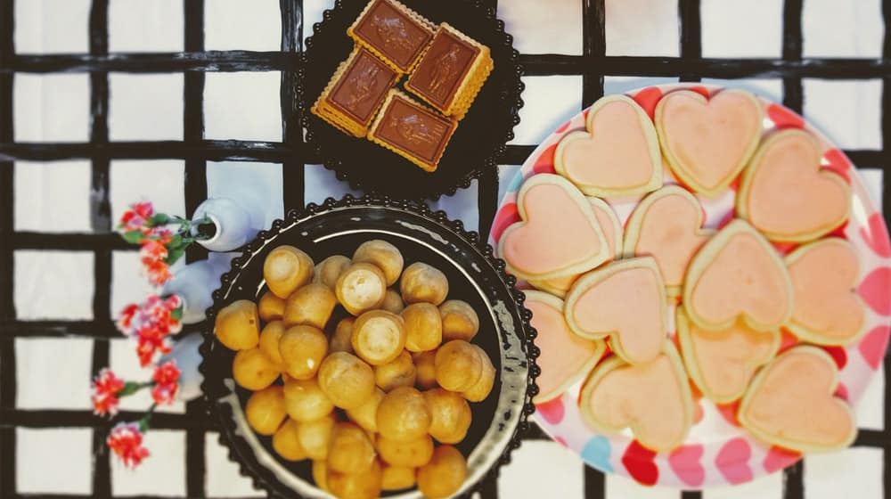
<svg viewBox="0 0 891 499"><path fill-rule="evenodd" d="M192 220L207 217L216 225L217 233L198 243L210 251L232 251L254 239L260 230L251 222L248 209L229 198L210 198L202 202ZM198 235L198 227L192 227L192 235Z"/></svg>

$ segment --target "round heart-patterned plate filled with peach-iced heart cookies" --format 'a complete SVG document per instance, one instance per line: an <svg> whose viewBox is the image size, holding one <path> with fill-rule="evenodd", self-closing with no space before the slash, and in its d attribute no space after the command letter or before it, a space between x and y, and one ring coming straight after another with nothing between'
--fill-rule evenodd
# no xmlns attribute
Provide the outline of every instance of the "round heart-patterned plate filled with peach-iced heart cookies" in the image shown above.
<svg viewBox="0 0 891 499"><path fill-rule="evenodd" d="M541 349L535 419L642 484L739 484L850 446L891 323L854 165L745 90L650 86L560 126L490 243Z"/></svg>

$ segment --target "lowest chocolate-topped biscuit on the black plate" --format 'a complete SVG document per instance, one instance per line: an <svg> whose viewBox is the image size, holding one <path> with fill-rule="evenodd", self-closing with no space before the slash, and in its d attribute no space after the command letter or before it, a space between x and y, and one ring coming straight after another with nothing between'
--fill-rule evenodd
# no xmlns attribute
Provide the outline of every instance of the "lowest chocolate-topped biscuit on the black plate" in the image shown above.
<svg viewBox="0 0 891 499"><path fill-rule="evenodd" d="M421 168L433 171L457 124L408 95L392 90L368 137Z"/></svg>

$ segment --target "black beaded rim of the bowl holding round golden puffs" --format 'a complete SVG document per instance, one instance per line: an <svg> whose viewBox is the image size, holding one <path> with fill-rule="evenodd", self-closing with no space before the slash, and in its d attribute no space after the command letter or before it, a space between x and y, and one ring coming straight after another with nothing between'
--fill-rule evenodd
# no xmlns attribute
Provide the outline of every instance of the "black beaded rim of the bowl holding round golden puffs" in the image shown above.
<svg viewBox="0 0 891 499"><path fill-rule="evenodd" d="M254 240L245 245L241 255L232 259L230 269L220 276L220 287L212 293L214 303L207 309L208 327L201 331L202 341L199 347L201 360L198 369L202 375L200 385L201 400L206 404L206 413L211 421L219 425L217 441L226 447L226 454L229 460L238 465L241 476L249 478L254 488L264 490L270 494L279 494L283 489L289 489L280 480L274 477L272 477L272 480L264 478L260 473L252 470L255 466L261 469L265 469L265 467L261 462L257 461L256 457L242 456L237 449L237 446L243 445L243 442L237 442L237 440L244 441L245 438L239 435L232 409L224 402L221 402L218 397L215 397L214 394L226 389L224 379L220 377L212 378L214 374L212 366L208 365L205 359L208 356L215 355L212 351L212 346L217 343L217 339L214 334L213 323L218 311L223 307L224 294L233 284L234 279L241 273L241 268L249 262L250 258L253 258L258 251L263 249L267 241L277 237L282 232L282 229L298 222L306 221L311 217L330 213L338 209L349 208L381 208L411 211L413 215L426 218L454 233L456 237L462 239L470 248L475 249L478 255L489 263L499 280L503 283L505 290L510 294L514 306L517 307L516 312L520 319L519 331L522 331L525 336L525 338L520 339L520 346L525 349L526 353L526 359L524 360L527 362L524 398L522 404L519 405L521 409L517 423L512 429L510 436L505 440L503 449L492 454L492 462L488 465L488 469L479 474L475 483L462 491L462 497L470 497L473 493L479 492L490 479L495 479L503 465L511 462L511 452L520 446L522 437L529 430L529 417L535 413L535 405L532 400L538 394L538 386L535 383L535 379L541 373L541 369L535 360L540 355L539 348L535 346L537 331L535 331L530 322L532 312L523 305L526 295L522 290L516 288L516 278L505 271L503 259L495 257L495 249L487 244L486 241L481 241L477 232L465 230L461 220L452 220L445 211L433 211L429 209L426 203L420 201L392 200L388 196L373 194L356 198L351 194L347 194L339 200L327 198L321 205L309 203L304 209L291 209L286 217L276 219L269 229L260 231ZM219 348L219 345L217 345L217 348ZM497 413L495 417L497 418ZM493 420L493 423L495 421ZM290 492L295 495L298 494L295 490L290 490Z"/></svg>

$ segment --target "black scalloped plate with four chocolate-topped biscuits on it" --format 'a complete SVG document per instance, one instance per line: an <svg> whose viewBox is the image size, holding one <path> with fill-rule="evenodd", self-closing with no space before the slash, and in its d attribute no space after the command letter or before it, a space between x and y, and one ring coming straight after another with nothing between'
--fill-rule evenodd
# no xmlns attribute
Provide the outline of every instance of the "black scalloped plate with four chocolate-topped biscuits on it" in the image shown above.
<svg viewBox="0 0 891 499"><path fill-rule="evenodd" d="M307 39L307 143L356 189L437 198L512 138L519 54L478 1L341 0Z"/></svg>

